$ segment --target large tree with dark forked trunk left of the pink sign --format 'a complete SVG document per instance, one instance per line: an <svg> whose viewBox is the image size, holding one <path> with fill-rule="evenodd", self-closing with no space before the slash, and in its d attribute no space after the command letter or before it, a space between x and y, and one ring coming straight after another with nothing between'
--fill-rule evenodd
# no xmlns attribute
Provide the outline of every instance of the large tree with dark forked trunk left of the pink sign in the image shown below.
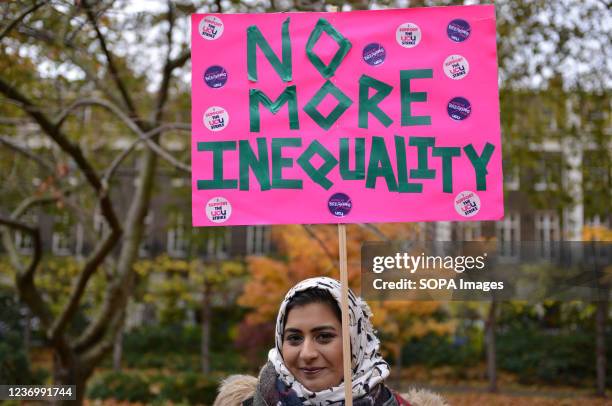
<svg viewBox="0 0 612 406"><path fill-rule="evenodd" d="M9 165L27 167L29 174L38 171L47 175L44 188L23 184L19 173L13 173L11 181L2 185L4 192L9 187L17 191L3 196L24 196L20 202L2 200L0 224L5 226L2 241L15 269L18 294L40 320L53 348L54 380L58 384L77 385L79 404L87 379L112 348L125 317L134 282L133 264L159 156L177 168L189 169L166 152L160 140L165 132L189 129L189 125L165 120L170 106L180 107L176 100L184 97L181 92L185 87L172 83L190 57L186 39L179 40L177 25L181 21L184 24L195 10L182 3L168 2L164 12L136 14L134 18L113 16L117 11L121 9L114 2L81 1L72 5L39 1L2 5L5 23L0 31L3 72L0 94L4 102L0 112L9 117L2 125L13 136L2 136L1 143L15 153ZM129 44L122 35L117 35L126 32L140 35L145 29L157 30L155 40L164 43L158 48L162 54L161 66L157 67L159 77L153 80L130 66L134 55L124 54L122 48L125 50ZM28 52L22 52L26 48ZM49 71L44 72L41 65L46 65ZM148 90L154 87L155 91ZM100 119L100 124L82 125L78 112L83 109ZM176 116L188 122L184 112L177 111ZM50 141L49 150L32 150L16 136L19 128L15 125L29 123L38 126L39 134ZM95 140L108 137L109 129L136 137L118 156L99 159ZM138 150L135 148L138 144L146 147ZM117 212L120 192L114 175L129 155L134 155L130 159L136 166L136 187L123 214ZM95 246L81 261L68 300L59 311L53 310L53 304L38 284L40 231L36 224L23 220L28 210L50 203L68 217L92 218L93 211L87 213L87 207L98 207L106 223L106 231L93 240ZM15 232L30 236L33 253L29 259L19 255L14 244ZM82 305L91 278L102 268L107 283L98 312L83 331L72 334L68 327Z"/></svg>

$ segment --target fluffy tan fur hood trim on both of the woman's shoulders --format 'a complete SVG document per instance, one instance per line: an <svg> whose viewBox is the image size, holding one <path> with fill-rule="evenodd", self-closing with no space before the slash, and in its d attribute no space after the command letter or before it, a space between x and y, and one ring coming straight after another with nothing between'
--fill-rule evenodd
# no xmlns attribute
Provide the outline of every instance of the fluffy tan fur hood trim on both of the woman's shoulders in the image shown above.
<svg viewBox="0 0 612 406"><path fill-rule="evenodd" d="M257 389L257 378L250 375L232 375L221 382L219 394L213 406L241 406L253 397ZM448 406L439 395L424 389L411 389L402 396L411 406ZM274 405L271 405L274 406Z"/></svg>

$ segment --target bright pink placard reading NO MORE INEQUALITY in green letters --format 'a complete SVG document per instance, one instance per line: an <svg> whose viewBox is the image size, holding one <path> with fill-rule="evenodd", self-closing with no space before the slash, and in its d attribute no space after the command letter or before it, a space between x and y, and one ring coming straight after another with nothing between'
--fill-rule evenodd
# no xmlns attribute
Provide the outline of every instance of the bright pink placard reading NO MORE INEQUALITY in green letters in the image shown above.
<svg viewBox="0 0 612 406"><path fill-rule="evenodd" d="M502 218L495 35L493 6L193 15L193 225Z"/></svg>

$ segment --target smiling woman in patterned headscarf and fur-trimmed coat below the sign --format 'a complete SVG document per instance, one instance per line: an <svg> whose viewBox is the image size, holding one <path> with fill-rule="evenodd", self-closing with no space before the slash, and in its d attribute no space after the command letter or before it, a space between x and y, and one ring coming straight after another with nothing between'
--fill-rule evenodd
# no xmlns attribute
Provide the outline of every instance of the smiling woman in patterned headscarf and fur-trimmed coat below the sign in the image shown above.
<svg viewBox="0 0 612 406"><path fill-rule="evenodd" d="M226 379L213 406L341 406L344 404L340 283L306 279L285 296L276 319L275 347L259 379ZM349 290L354 406L443 406L437 395L412 391L408 400L388 389L389 365L379 353L372 312Z"/></svg>

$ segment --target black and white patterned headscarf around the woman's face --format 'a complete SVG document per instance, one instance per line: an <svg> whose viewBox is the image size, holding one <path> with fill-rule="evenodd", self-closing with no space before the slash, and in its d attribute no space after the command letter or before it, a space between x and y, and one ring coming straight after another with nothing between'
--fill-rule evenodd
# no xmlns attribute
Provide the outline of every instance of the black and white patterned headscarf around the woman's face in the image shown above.
<svg viewBox="0 0 612 406"><path fill-rule="evenodd" d="M344 382L320 392L306 389L289 372L282 357L283 331L287 304L297 292L319 288L326 290L340 306L340 283L331 278L306 279L295 285L281 303L276 319L276 346L268 353L268 360L274 365L279 379L298 395L304 405L329 406L344 403ZM379 353L380 341L375 335L370 318L372 311L368 304L349 290L349 329L351 333L351 365L353 368L353 397L359 399L389 376L389 365Z"/></svg>

